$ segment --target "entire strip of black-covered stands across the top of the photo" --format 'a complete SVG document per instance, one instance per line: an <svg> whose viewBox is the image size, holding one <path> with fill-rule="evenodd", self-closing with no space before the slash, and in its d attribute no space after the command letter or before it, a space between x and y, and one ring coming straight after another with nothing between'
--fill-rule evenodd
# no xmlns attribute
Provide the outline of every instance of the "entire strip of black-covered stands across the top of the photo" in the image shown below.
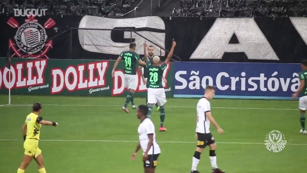
<svg viewBox="0 0 307 173"><path fill-rule="evenodd" d="M13 9L48 9L46 14L120 17L134 0L0 0L0 13ZM307 0L136 0L138 15L178 17L307 17ZM179 3L181 2L181 5ZM161 5L161 6L160 6ZM154 8L154 9L153 9ZM125 17L133 17L133 14Z"/></svg>

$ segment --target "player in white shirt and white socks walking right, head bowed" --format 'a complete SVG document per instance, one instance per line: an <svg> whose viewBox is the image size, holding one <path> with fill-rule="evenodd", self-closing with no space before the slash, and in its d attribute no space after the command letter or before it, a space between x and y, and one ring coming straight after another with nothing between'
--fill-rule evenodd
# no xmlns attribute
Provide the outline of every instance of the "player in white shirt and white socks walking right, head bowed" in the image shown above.
<svg viewBox="0 0 307 173"><path fill-rule="evenodd" d="M221 171L217 167L216 154L215 154L216 143L209 130L210 123L212 123L214 127L217 128L217 131L220 134L224 133L223 129L220 128L219 125L217 125L217 123L211 116L209 100L212 99L214 95L215 95L214 87L207 85L204 96L197 103L197 108L196 108L197 110L197 118L196 118L197 147L193 155L193 159L192 159L191 173L200 173L199 171L196 171L196 169L197 169L197 165L200 160L200 154L204 151L204 148L207 145L210 147L209 158L211 161L212 172L213 173L226 172L226 171Z"/></svg>

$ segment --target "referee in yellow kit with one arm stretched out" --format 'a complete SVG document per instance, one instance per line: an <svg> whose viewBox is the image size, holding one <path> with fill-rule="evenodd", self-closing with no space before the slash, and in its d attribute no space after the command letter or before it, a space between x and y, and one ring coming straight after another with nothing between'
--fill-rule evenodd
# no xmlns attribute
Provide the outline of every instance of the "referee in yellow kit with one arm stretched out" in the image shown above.
<svg viewBox="0 0 307 173"><path fill-rule="evenodd" d="M38 171L40 173L46 173L44 167L44 159L41 155L41 149L38 148L38 140L40 136L41 124L58 126L58 123L43 120L40 115L42 106L36 102L33 104L33 112L30 113L25 124L22 126L23 140L25 141L23 147L25 148L25 154L23 161L17 170L17 173L24 173L32 159L37 162Z"/></svg>

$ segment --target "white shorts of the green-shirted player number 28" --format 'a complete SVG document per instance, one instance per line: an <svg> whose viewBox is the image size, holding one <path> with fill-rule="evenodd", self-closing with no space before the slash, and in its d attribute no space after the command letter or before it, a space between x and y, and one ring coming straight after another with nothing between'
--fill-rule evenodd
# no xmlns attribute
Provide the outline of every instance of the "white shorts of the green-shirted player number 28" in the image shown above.
<svg viewBox="0 0 307 173"><path fill-rule="evenodd" d="M148 103L163 106L166 103L165 89L164 88L148 88L147 91Z"/></svg>

